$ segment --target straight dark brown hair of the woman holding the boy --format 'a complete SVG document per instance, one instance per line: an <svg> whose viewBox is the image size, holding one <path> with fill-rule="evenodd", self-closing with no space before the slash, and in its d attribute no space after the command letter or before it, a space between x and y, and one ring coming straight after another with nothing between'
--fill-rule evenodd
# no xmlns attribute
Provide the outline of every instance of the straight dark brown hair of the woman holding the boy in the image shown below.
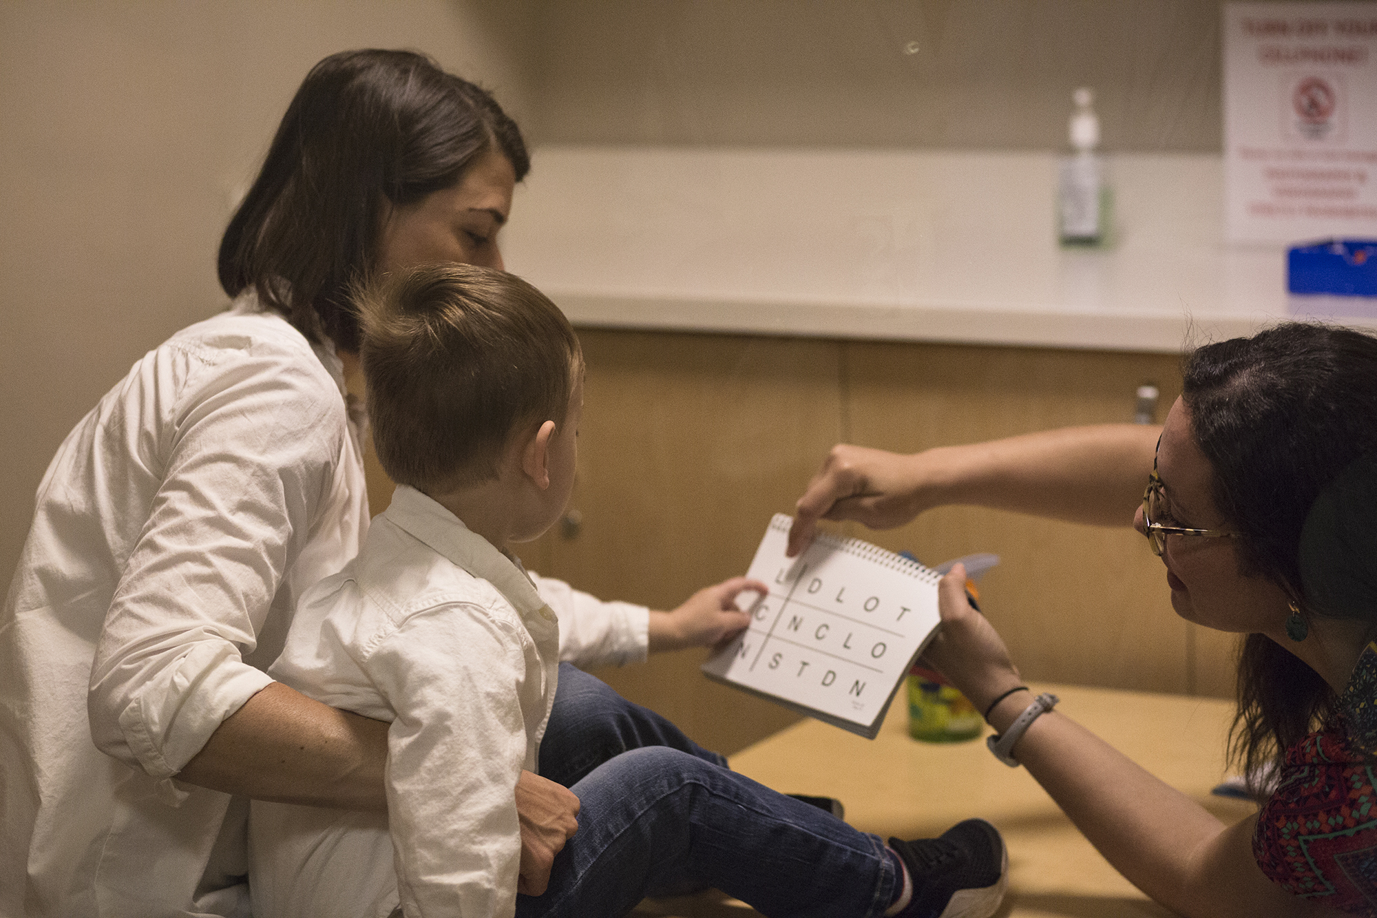
<svg viewBox="0 0 1377 918"><path fill-rule="evenodd" d="M257 291L311 340L358 350L348 285L377 258L383 204L454 185L487 150L519 182L521 130L485 90L410 51L341 51L306 74L220 240L220 287Z"/></svg>

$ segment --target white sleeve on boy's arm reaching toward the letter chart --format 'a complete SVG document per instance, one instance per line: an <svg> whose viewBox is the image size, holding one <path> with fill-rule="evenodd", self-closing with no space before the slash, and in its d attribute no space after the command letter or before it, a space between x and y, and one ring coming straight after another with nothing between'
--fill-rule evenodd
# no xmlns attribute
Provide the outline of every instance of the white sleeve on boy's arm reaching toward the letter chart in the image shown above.
<svg viewBox="0 0 1377 918"><path fill-rule="evenodd" d="M559 659L580 669L625 666L646 659L650 609L632 602L605 602L563 580L532 572L536 590L559 618Z"/></svg>

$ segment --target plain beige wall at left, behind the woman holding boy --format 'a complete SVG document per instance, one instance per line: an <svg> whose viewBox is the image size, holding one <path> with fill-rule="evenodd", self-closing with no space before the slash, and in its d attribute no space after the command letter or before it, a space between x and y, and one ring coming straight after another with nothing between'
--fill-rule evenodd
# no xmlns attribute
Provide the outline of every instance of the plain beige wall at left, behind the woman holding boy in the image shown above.
<svg viewBox="0 0 1377 918"><path fill-rule="evenodd" d="M62 437L218 310L215 249L307 69L416 47L518 117L529 3L0 3L0 580Z"/></svg>

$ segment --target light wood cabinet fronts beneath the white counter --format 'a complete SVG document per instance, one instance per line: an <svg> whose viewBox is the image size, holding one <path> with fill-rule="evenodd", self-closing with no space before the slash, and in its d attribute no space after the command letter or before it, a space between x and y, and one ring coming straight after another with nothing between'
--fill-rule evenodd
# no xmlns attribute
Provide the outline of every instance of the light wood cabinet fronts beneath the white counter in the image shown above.
<svg viewBox="0 0 1377 918"><path fill-rule="evenodd" d="M668 608L739 573L766 518L790 511L826 449L898 451L1124 420L1133 389L1179 391L1173 357L584 329L587 411L571 506L519 546L533 569L606 598ZM354 383L354 380L351 380ZM351 386L351 389L355 386ZM373 513L392 484L365 452ZM892 532L848 532L938 562L1004 557L983 605L1029 678L1228 697L1234 635L1181 622L1161 564L1128 529L946 507ZM706 682L702 651L600 670L700 742L733 751L796 720Z"/></svg>

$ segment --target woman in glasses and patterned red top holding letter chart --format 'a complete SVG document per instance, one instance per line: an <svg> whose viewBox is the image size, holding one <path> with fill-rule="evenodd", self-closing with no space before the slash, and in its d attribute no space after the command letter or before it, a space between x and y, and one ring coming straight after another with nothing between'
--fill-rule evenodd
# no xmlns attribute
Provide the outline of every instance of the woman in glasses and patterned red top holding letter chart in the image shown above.
<svg viewBox="0 0 1377 918"><path fill-rule="evenodd" d="M1176 612L1246 634L1234 753L1261 812L1226 826L1022 688L990 623L942 583L928 659L1095 846L1183 915L1377 915L1377 338L1286 324L1195 350L1165 426L1103 426L899 456L839 445L799 500L899 525L943 503L1133 520ZM1147 482L1144 493L1143 485Z"/></svg>

